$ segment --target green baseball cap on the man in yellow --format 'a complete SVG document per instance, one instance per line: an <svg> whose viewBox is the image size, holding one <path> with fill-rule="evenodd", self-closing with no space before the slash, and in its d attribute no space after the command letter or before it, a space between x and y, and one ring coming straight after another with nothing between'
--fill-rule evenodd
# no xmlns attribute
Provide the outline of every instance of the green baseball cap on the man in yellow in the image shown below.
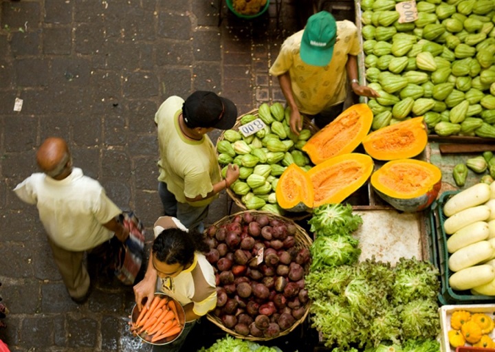
<svg viewBox="0 0 495 352"><path fill-rule="evenodd" d="M301 59L308 65L326 66L333 55L337 23L330 12L321 11L309 17L300 45Z"/></svg>

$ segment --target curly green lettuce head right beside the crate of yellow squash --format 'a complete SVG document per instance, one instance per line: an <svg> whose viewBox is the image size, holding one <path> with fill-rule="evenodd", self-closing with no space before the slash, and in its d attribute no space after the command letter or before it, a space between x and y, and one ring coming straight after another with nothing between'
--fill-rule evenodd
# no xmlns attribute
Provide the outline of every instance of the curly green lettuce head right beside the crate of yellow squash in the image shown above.
<svg viewBox="0 0 495 352"><path fill-rule="evenodd" d="M434 300L412 300L402 306L402 336L405 339L431 339L437 336L440 319L438 305Z"/></svg>

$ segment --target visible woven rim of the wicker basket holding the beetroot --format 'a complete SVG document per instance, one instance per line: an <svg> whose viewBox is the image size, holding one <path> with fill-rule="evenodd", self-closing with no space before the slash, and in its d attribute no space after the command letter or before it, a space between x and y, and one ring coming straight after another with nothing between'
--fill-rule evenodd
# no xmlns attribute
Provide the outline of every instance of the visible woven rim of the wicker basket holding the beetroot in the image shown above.
<svg viewBox="0 0 495 352"><path fill-rule="evenodd" d="M217 221L213 225L216 225L217 228L219 228L221 225L224 225L225 223L232 222L232 219L234 219L234 217L236 217L238 215L242 216L243 214L245 214L245 212L250 212L253 216L265 214L265 215L267 215L267 217L269 217L269 219L280 219L281 221L285 221L285 223L291 223L292 225L296 226L296 234L294 234L294 237L296 239L296 244L294 245L294 247L296 247L298 249L300 249L300 248L309 249L311 247L311 243L313 243L313 240L311 240L311 237L309 237L308 234L306 233L306 231L303 228L301 228L298 224L294 223L294 221L292 221L291 219L287 219L286 217L281 217L280 215L273 214L272 212L264 212L264 211L259 211L259 210L245 210L245 211L241 211L241 212L236 212L235 214L231 214L227 217L223 217L222 219L220 219L219 221ZM304 270L305 270L305 273L309 272L309 263L307 263L305 265ZM278 336L276 336L275 338L285 336L288 333L290 333L291 331L293 331L294 329L296 329L296 327L298 327L298 325L300 325L300 323L302 323L306 319L307 315L309 314L309 306L310 305L311 305L311 301L308 301L305 305L304 316L301 317L300 319L296 320L296 322L294 322L292 327L290 327L289 329L281 331L280 334ZM232 329L228 329L227 327L225 327L223 325L223 323L221 322L220 318L215 316L212 312L208 313L206 318L208 318L208 320L210 320L210 322L212 322L214 325L217 325L217 327L219 327L220 329L222 329L226 333L234 336L235 338L240 338L243 340L250 340L250 341L272 340L272 338L264 338L264 337L258 338L258 337L252 336L252 335L243 336L239 333L236 333L236 331L234 331Z"/></svg>

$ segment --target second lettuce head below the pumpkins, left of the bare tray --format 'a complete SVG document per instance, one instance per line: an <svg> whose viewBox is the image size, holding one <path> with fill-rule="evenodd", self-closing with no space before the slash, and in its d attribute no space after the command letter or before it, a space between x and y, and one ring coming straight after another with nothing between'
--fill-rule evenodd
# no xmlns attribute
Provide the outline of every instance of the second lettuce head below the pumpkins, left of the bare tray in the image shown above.
<svg viewBox="0 0 495 352"><path fill-rule="evenodd" d="M356 263L361 254L359 241L350 234L335 236L316 236L311 245L311 270L318 270L328 265L349 265Z"/></svg>

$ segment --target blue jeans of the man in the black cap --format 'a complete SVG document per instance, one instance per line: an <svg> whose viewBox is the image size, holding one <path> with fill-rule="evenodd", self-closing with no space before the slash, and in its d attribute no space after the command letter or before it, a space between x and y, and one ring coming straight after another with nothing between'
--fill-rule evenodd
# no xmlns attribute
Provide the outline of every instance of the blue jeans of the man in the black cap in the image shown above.
<svg viewBox="0 0 495 352"><path fill-rule="evenodd" d="M203 219L208 215L208 206L197 207L190 206L188 203L179 203L175 199L175 195L167 189L165 182L159 182L158 194L162 199L166 215L176 217L182 225L190 230L196 229L198 232L203 233Z"/></svg>

